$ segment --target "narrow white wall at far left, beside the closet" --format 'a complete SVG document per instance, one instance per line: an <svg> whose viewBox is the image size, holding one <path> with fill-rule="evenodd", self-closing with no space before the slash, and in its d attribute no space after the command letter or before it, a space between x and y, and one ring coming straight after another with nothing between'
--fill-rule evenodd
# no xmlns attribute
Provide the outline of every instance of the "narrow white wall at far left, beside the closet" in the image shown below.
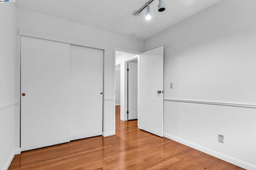
<svg viewBox="0 0 256 170"><path fill-rule="evenodd" d="M0 3L0 169L14 156L15 4Z"/></svg>

